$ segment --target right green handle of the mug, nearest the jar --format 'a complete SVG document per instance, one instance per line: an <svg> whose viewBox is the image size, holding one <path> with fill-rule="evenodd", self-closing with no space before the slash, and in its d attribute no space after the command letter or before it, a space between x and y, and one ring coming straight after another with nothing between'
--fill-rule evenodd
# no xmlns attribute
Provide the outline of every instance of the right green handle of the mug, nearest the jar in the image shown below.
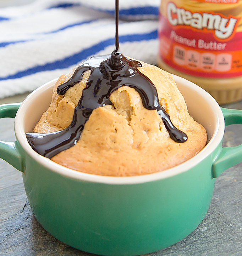
<svg viewBox="0 0 242 256"><path fill-rule="evenodd" d="M242 110L233 110L229 108L222 108L224 114L225 126L230 124L242 124ZM240 163L242 161L242 145L221 148L217 155L213 166L213 178L217 178L223 171Z"/></svg>

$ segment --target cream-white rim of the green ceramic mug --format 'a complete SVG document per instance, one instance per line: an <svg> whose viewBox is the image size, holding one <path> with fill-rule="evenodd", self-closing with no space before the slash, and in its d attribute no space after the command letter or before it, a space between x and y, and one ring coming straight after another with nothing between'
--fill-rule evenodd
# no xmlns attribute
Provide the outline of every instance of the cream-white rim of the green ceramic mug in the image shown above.
<svg viewBox="0 0 242 256"><path fill-rule="evenodd" d="M28 107L31 105L31 102L35 101L38 98L42 90L44 90L47 87L53 86L57 79L54 79L44 84L43 86L40 86L23 101L15 118L16 137L20 142L22 148L41 165L45 166L46 168L52 171L59 173L60 175L70 177L70 178L75 178L78 180L107 183L107 184L136 184L136 183L144 183L144 182L160 180L160 179L164 179L167 177L180 174L181 172L185 172L191 169L192 167L196 166L200 161L205 159L209 154L211 154L216 149L216 147L219 145L219 143L223 138L225 126L224 126L224 116L222 114L221 108L218 105L218 103L214 100L214 98L210 96L210 94L208 94L208 92L203 90L201 87L193 84L192 82L184 78L181 78L179 76L174 75L174 79L176 83L185 85L186 87L188 87L189 90L194 91L194 93L198 93L200 96L202 96L205 99L207 104L210 105L211 110L214 111L213 115L214 115L214 118L216 118L216 127L214 129L214 134L212 138L204 147L204 149L202 149L197 155L193 156L193 158L187 160L186 162L183 162L180 165L172 167L171 169L161 171L161 172L155 172L153 174L141 175L141 176L128 176L128 177L100 176L100 175L87 174L84 172L79 172L79 171L69 169L36 153L28 144L28 141L26 139L25 132L27 131L24 131L23 115L28 109Z"/></svg>

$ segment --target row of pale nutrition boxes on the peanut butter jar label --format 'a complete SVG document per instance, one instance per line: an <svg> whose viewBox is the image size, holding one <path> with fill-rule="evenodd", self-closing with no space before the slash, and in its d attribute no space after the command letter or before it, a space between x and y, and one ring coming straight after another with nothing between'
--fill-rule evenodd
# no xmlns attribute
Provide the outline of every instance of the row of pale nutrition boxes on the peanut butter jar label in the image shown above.
<svg viewBox="0 0 242 256"><path fill-rule="evenodd" d="M198 52L197 50L185 49L174 46L173 61L189 69L202 71L230 71L232 68L232 54L211 52Z"/></svg>

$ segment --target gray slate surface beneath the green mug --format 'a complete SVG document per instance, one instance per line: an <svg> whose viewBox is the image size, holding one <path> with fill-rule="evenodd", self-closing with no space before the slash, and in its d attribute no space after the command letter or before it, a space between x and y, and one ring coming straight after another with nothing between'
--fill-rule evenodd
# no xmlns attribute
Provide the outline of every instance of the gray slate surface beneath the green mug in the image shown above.
<svg viewBox="0 0 242 256"><path fill-rule="evenodd" d="M242 101L225 107L242 109ZM226 128L224 146L242 143L242 126ZM13 119L0 120L0 139L14 140ZM24 192L21 173L0 159L0 255L91 255L63 244L37 222ZM202 223L175 245L150 256L242 255L242 163L216 179Z"/></svg>

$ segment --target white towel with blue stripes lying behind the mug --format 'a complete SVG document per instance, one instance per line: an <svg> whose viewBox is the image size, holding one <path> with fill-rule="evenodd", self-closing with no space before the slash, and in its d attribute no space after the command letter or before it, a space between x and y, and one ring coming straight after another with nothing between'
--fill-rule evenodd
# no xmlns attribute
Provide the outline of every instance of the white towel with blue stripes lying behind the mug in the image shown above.
<svg viewBox="0 0 242 256"><path fill-rule="evenodd" d="M120 0L120 52L151 64L160 0ZM115 0L37 0L0 9L0 98L33 91L115 49Z"/></svg>

